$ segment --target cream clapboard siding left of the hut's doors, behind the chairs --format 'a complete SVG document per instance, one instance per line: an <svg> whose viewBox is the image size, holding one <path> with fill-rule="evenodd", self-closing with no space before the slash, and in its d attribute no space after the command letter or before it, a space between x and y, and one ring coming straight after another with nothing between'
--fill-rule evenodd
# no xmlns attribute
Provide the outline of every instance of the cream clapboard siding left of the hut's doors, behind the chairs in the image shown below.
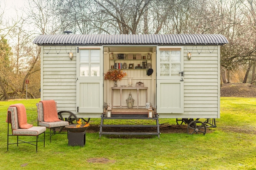
<svg viewBox="0 0 256 170"><path fill-rule="evenodd" d="M76 49L71 46L44 46L41 49L41 100L55 100L58 111L76 113Z"/></svg>

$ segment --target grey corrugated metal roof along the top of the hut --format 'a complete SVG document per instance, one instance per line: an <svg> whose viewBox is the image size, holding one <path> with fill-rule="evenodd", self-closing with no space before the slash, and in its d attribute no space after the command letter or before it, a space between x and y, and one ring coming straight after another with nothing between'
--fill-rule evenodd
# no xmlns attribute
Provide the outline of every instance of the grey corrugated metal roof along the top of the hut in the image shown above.
<svg viewBox="0 0 256 170"><path fill-rule="evenodd" d="M61 34L39 35L33 41L37 45L182 45L182 44L213 44L228 43L221 34Z"/></svg>

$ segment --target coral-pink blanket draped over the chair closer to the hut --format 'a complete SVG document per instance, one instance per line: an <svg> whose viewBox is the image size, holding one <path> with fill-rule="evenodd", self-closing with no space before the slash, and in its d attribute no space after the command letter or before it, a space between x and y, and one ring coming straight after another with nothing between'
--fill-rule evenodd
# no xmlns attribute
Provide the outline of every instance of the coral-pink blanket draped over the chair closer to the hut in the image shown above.
<svg viewBox="0 0 256 170"><path fill-rule="evenodd" d="M43 104L43 121L61 121L58 117L56 103L54 100L42 100L40 102Z"/></svg>

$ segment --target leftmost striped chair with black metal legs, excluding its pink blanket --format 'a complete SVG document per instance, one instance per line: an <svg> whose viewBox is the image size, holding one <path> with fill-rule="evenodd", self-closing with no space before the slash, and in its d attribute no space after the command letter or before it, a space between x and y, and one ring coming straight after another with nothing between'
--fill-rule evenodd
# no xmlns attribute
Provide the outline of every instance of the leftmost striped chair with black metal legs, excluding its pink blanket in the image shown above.
<svg viewBox="0 0 256 170"><path fill-rule="evenodd" d="M30 127L29 129L21 129L19 127L19 122L18 122L18 115L17 114L17 108L16 107L9 107L8 108L8 113L7 113L7 151L9 150L9 145L10 144L21 144L21 143L28 143L36 146L36 152L37 152L37 142L43 142L43 147L45 147L45 131L46 127L38 127L38 126L33 126ZM9 123L11 123L11 134L9 134ZM38 136L40 134L43 134L43 140L38 140ZM17 142L16 143L9 143L9 136L17 136ZM19 136L36 136L37 140L36 141L29 141L26 142L24 140L19 140ZM36 144L32 143L36 142Z"/></svg>

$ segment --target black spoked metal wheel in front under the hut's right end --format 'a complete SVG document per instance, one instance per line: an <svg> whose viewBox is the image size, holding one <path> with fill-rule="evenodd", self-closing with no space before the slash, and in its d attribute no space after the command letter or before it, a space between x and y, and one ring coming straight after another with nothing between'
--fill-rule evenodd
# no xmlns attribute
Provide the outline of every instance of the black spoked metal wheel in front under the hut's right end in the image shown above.
<svg viewBox="0 0 256 170"><path fill-rule="evenodd" d="M188 134L206 134L206 127L202 121L191 121L187 128Z"/></svg>

